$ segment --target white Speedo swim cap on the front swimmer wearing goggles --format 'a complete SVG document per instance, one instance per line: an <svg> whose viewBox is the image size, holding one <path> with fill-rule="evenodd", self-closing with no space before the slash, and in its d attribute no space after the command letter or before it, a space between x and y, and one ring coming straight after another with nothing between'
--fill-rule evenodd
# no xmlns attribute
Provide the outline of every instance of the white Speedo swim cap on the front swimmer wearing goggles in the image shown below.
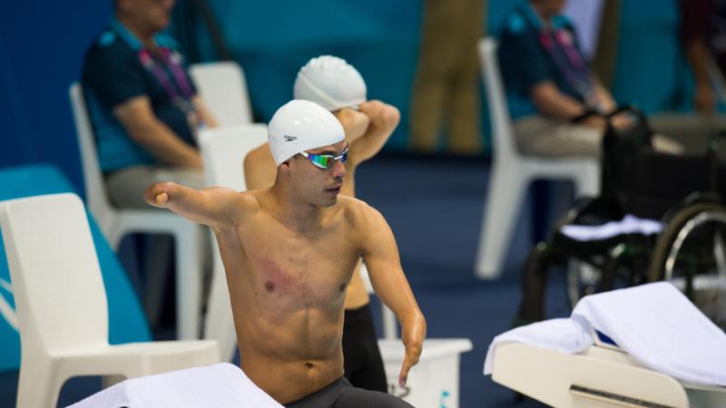
<svg viewBox="0 0 726 408"><path fill-rule="evenodd" d="M318 149L345 139L346 134L338 118L315 102L287 102L275 112L268 125L270 151L278 166L301 151Z"/></svg>

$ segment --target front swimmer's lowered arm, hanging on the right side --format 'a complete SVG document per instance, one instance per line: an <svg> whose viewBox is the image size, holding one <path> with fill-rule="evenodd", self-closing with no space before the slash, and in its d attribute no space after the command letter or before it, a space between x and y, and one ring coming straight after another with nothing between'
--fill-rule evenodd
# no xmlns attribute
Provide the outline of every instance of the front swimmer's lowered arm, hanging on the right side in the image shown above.
<svg viewBox="0 0 726 408"><path fill-rule="evenodd" d="M388 222L378 212L366 205L363 211L362 257L368 268L368 276L380 300L390 308L401 324L401 341L406 346L398 384L406 384L408 370L418 363L426 337L426 319L416 303L411 287L401 268L396 239Z"/></svg>

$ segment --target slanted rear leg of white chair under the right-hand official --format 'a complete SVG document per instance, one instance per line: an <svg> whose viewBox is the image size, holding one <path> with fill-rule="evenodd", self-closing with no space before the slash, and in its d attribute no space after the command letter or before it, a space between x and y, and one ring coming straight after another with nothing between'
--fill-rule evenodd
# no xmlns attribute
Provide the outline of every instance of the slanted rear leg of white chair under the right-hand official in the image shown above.
<svg viewBox="0 0 726 408"><path fill-rule="evenodd" d="M506 248L522 207L529 178L515 166L493 166L486 194L484 219L476 251L476 277L495 279L501 274Z"/></svg>

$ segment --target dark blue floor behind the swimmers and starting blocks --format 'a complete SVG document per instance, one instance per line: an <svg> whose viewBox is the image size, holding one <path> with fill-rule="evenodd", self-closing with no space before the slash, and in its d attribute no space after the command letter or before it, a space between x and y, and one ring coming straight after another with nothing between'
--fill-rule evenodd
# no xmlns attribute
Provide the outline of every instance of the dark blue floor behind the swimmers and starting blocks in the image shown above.
<svg viewBox="0 0 726 408"><path fill-rule="evenodd" d="M527 399L517 402L513 392L482 374L487 346L510 327L515 314L519 273L532 245L534 213L529 194L520 209L502 277L477 280L474 260L488 169L485 160L379 157L358 170L358 197L388 219L404 270L427 317L427 335L468 337L474 344L474 350L461 359L460 406L542 406ZM568 315L564 282L558 274L553 274L547 293L548 316ZM98 378L69 381L59 406L98 391L100 384ZM17 373L0 374L0 408L14 406L16 385Z"/></svg>

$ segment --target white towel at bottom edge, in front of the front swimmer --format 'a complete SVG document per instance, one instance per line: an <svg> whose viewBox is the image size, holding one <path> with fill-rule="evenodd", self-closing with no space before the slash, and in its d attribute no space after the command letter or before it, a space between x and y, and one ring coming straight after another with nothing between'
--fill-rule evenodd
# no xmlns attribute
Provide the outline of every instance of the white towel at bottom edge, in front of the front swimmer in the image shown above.
<svg viewBox="0 0 726 408"><path fill-rule="evenodd" d="M282 408L229 363L132 378L71 408Z"/></svg>

